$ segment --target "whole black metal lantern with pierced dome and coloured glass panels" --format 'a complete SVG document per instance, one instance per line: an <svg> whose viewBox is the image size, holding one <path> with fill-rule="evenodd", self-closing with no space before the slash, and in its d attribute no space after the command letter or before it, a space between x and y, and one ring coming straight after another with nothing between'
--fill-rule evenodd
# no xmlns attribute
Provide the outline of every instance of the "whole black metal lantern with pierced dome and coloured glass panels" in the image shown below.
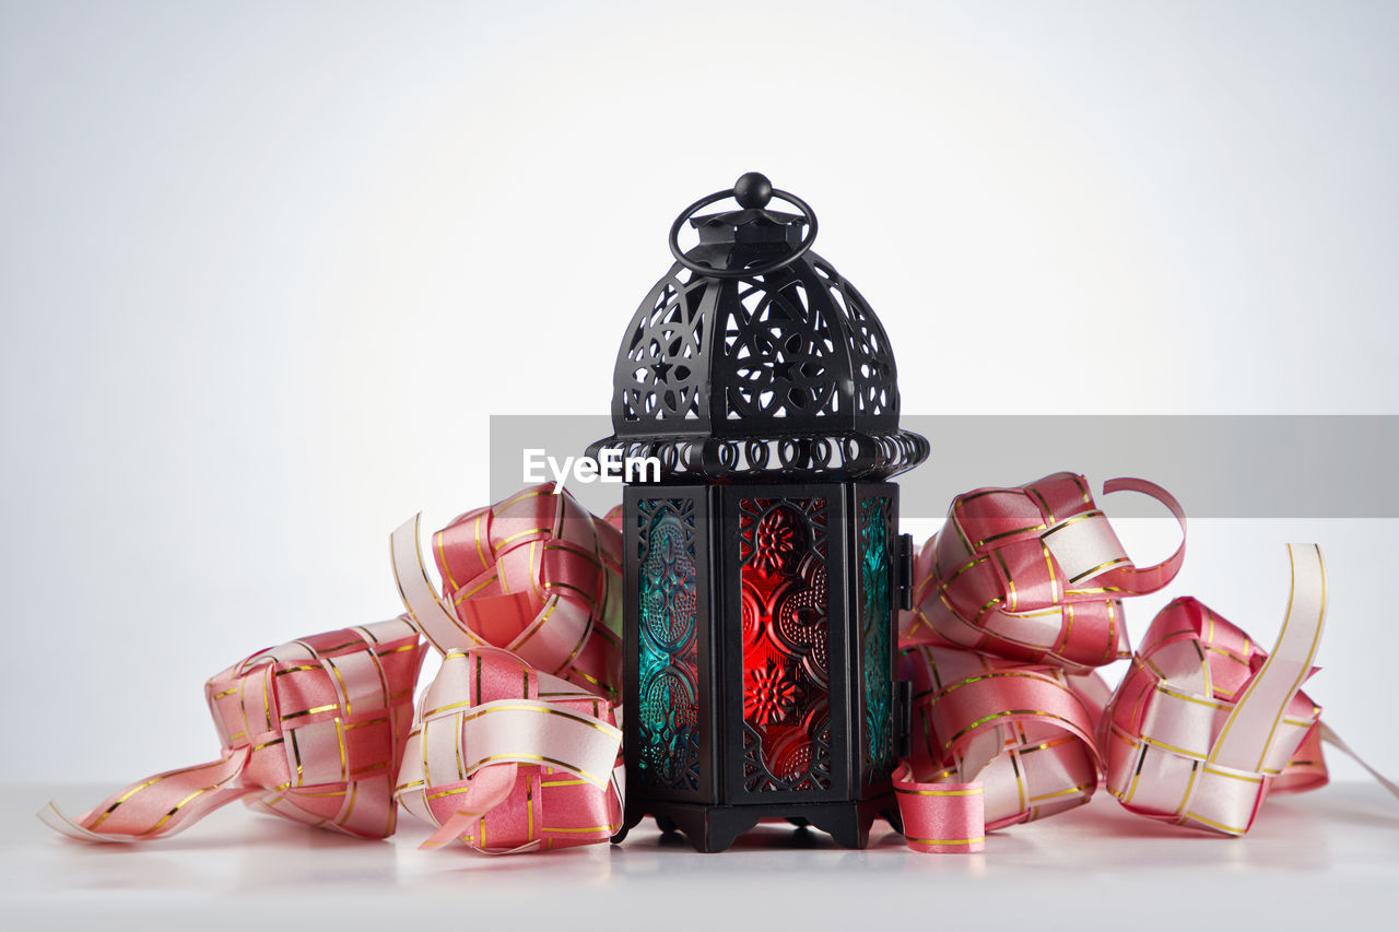
<svg viewBox="0 0 1399 932"><path fill-rule="evenodd" d="M740 210L694 217L733 197ZM768 210L776 196L802 213ZM691 218L693 217L693 218ZM683 252L686 221L700 245ZM888 477L928 456L898 428L884 329L813 253L816 214L750 172L670 230L676 263L617 354L613 437L656 458L628 484L627 813L700 851L785 817L863 848L897 826L907 722L894 614L911 542Z"/></svg>

